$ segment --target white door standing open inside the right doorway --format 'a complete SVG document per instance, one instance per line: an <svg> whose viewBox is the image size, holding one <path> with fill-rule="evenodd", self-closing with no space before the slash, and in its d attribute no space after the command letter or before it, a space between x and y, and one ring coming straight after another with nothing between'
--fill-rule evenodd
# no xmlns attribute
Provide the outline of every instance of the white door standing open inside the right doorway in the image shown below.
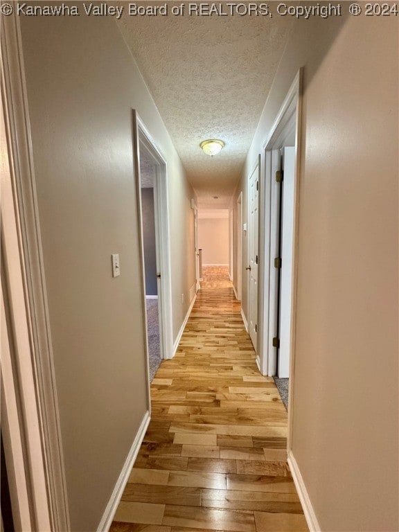
<svg viewBox="0 0 399 532"><path fill-rule="evenodd" d="M280 348L278 352L278 377L281 378L287 378L290 374L294 171L295 148L284 148L281 202Z"/></svg>

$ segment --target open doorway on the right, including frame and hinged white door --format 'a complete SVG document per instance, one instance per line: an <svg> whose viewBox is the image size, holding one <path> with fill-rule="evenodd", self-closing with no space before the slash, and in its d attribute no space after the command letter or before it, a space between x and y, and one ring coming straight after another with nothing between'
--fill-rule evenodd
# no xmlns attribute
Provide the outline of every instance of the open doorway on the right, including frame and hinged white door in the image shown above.
<svg viewBox="0 0 399 532"><path fill-rule="evenodd" d="M301 71L288 92L269 139L264 145L265 229L260 242L265 257L261 312L263 355L261 371L273 376L288 410L290 450L294 386L296 205L299 174Z"/></svg>

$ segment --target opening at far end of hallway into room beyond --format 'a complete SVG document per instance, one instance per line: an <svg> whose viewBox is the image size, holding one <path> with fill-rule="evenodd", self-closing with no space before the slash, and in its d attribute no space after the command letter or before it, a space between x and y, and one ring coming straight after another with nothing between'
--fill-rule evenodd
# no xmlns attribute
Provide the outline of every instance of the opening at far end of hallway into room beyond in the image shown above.
<svg viewBox="0 0 399 532"><path fill-rule="evenodd" d="M226 281L231 285L230 219L229 209L198 209L197 236L201 284L206 283L211 287L213 283Z"/></svg>

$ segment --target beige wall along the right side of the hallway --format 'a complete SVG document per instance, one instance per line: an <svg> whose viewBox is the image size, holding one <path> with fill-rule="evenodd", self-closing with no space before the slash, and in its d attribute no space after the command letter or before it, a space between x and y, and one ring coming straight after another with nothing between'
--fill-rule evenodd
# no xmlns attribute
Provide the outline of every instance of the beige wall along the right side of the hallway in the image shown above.
<svg viewBox="0 0 399 532"><path fill-rule="evenodd" d="M294 23L240 189L302 66L292 452L322 531L397 531L398 21Z"/></svg>

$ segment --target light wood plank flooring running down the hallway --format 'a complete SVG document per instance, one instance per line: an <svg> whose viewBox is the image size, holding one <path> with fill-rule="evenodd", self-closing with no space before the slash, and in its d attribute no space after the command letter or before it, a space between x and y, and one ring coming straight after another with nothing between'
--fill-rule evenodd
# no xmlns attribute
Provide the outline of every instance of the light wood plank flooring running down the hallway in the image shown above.
<svg viewBox="0 0 399 532"><path fill-rule="evenodd" d="M204 282L151 385L148 431L110 532L308 531L287 412L260 375L227 269Z"/></svg>

